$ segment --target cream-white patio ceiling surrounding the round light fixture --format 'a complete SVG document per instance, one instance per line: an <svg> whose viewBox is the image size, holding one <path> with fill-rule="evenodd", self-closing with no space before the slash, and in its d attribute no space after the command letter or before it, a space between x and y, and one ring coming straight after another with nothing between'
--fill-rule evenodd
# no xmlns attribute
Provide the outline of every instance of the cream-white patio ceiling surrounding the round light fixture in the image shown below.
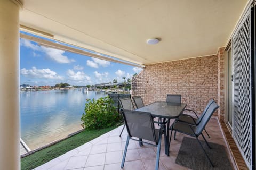
<svg viewBox="0 0 256 170"><path fill-rule="evenodd" d="M23 0L20 24L138 64L216 54L249 0ZM156 45L148 38L161 38Z"/></svg>

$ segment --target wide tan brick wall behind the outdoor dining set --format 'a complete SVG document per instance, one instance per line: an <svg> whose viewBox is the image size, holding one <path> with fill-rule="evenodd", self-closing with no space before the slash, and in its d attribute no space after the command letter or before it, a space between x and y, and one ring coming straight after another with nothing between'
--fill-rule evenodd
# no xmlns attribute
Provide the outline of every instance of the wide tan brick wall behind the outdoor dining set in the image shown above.
<svg viewBox="0 0 256 170"><path fill-rule="evenodd" d="M218 56L146 65L133 77L132 95L145 104L165 101L166 94L181 94L188 109L201 113L211 98L218 100Z"/></svg>

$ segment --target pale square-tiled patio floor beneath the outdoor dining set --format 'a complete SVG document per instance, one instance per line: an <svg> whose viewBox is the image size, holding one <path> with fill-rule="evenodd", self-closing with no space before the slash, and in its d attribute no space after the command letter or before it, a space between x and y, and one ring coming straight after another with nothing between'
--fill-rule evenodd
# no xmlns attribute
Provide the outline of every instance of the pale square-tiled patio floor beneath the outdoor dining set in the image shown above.
<svg viewBox="0 0 256 170"><path fill-rule="evenodd" d="M158 125L156 125L158 127ZM119 133L123 126L120 126L100 137L85 143L84 145L73 149L66 154L63 154L50 162L47 162L37 168L41 169L76 169L76 170L115 170L121 169L121 161L127 138L126 129L122 137ZM214 118L209 121L206 126L207 132L211 138L206 137L206 140L213 143L218 143L225 146L225 141L222 136L220 126ZM177 140L171 141L170 156L167 157L164 153L164 140L162 140L161 157L159 169L188 169L186 167L175 164L175 159L184 135L177 133ZM140 147L139 143L133 140L129 142L124 169L133 170L149 170L155 169L156 163L156 147L144 144Z"/></svg>

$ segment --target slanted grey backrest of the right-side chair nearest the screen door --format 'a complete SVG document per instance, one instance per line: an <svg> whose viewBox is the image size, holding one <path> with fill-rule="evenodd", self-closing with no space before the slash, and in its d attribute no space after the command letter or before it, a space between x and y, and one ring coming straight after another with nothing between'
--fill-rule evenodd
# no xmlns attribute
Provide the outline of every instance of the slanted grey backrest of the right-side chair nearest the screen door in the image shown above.
<svg viewBox="0 0 256 170"><path fill-rule="evenodd" d="M200 135L202 133L206 124L209 122L211 116L217 110L217 108L219 108L219 106L215 101L213 101L213 103L209 106L209 108L205 112L201 122L196 126L196 131L195 131L196 135Z"/></svg>

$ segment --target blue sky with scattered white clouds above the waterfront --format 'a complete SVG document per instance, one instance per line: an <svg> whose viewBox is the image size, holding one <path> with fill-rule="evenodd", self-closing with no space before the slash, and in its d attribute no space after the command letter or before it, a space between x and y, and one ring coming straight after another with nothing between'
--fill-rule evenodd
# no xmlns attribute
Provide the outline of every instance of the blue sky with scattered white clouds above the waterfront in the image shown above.
<svg viewBox="0 0 256 170"><path fill-rule="evenodd" d="M123 77L131 79L140 71L138 67L43 47L20 38L20 84L54 86L62 82L85 86L114 79L124 82Z"/></svg>

